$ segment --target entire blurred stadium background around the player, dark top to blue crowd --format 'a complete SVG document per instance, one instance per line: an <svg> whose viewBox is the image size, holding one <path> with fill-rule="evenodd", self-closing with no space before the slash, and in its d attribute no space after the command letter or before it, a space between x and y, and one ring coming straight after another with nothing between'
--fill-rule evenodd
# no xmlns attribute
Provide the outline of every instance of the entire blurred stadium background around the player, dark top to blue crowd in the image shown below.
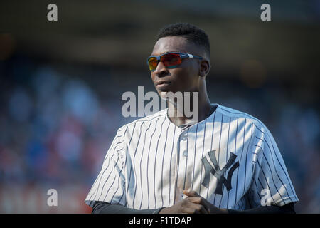
<svg viewBox="0 0 320 228"><path fill-rule="evenodd" d="M47 20L50 3L58 21ZM267 125L297 212L320 212L320 1L44 0L0 3L1 213L91 212L84 199L105 152L134 120L122 93L156 91L146 58L175 22L210 37L210 101ZM47 205L51 188L58 207Z"/></svg>

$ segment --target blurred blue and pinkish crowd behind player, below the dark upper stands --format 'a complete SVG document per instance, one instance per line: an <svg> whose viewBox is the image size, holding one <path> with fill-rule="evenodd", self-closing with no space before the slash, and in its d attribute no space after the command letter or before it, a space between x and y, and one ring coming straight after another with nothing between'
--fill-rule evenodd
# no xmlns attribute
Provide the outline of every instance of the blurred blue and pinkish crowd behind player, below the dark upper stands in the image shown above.
<svg viewBox="0 0 320 228"><path fill-rule="evenodd" d="M105 81L26 57L0 61L0 212L52 212L46 207L49 188L63 199L55 212L90 212L84 199L105 152L117 128L132 121L121 115L123 82L110 79L117 71L100 74ZM92 81L105 86L97 90ZM130 83L134 92L141 86ZM233 86L209 81L208 90L211 102L267 125L300 199L297 212L319 213L318 107L294 102L284 88L243 88L236 92L241 96L224 97L218 94L235 93Z"/></svg>

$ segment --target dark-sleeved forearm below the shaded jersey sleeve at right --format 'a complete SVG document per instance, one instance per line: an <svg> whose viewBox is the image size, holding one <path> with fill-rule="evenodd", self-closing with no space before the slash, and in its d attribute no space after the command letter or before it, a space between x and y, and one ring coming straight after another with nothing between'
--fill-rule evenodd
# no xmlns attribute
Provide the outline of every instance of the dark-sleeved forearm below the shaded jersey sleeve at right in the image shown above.
<svg viewBox="0 0 320 228"><path fill-rule="evenodd" d="M246 210L235 210L235 209L228 209L229 214L295 214L294 211L294 204L289 203L285 204L282 207L278 206L268 206L268 207L257 207L253 209L246 209Z"/></svg>

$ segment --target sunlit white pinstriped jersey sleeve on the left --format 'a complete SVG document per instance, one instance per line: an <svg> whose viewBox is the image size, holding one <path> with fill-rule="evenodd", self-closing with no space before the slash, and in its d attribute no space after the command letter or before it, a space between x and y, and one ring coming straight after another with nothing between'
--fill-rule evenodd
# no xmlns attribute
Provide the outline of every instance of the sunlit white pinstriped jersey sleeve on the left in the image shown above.
<svg viewBox="0 0 320 228"><path fill-rule="evenodd" d="M118 130L116 137L105 155L102 169L93 183L85 203L93 207L95 201L125 205L124 140Z"/></svg>

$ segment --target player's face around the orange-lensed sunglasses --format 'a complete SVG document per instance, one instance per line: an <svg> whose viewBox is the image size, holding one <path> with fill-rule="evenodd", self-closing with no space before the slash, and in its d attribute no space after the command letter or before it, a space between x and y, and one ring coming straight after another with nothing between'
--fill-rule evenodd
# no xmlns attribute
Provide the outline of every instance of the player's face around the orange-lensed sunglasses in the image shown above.
<svg viewBox="0 0 320 228"><path fill-rule="evenodd" d="M154 45L152 56L160 56L163 53L180 52L203 56L202 51L195 44L181 36L168 36L160 38ZM200 76L200 60L185 58L176 68L166 68L164 63L159 62L151 78L157 92L194 92L198 91ZM161 84L159 84L161 82ZM161 95L161 94L160 94Z"/></svg>

